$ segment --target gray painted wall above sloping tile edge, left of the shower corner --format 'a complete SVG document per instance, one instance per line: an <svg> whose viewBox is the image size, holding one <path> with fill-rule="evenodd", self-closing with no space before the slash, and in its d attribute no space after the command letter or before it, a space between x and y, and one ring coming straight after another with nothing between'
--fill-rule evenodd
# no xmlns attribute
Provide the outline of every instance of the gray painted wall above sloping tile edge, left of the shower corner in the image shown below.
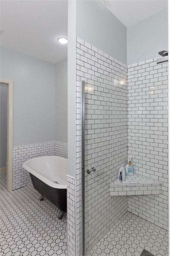
<svg viewBox="0 0 170 256"><path fill-rule="evenodd" d="M127 64L127 29L100 1L76 1L76 35Z"/></svg>

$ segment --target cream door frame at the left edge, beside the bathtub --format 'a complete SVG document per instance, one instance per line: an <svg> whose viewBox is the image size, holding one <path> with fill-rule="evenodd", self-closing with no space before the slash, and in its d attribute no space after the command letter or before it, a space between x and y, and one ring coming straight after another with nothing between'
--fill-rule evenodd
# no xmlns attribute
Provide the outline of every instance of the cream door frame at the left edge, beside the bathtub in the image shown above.
<svg viewBox="0 0 170 256"><path fill-rule="evenodd" d="M7 85L7 190L12 191L13 159L13 81L0 78Z"/></svg>

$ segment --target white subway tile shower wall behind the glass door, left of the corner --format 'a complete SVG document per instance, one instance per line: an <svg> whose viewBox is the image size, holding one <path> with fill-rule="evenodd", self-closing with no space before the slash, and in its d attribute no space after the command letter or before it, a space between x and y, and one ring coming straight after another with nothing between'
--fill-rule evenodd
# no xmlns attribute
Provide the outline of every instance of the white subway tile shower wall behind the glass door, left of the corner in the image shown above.
<svg viewBox="0 0 170 256"><path fill-rule="evenodd" d="M86 125L91 136L91 139L88 138L91 147L88 149L88 155L91 160L93 159L91 162L89 159L88 165L92 167L95 163L98 170L92 176L86 176L86 248L90 249L127 210L126 196L114 198L109 196L109 182L116 179L119 167L125 165L127 161L127 86L123 86L124 83L126 84L127 66L79 38L77 38L76 51L76 255L80 255L82 167L80 81L89 79L88 84L94 86L92 95L86 94L87 98L90 97L87 99L88 103L86 102L86 117L91 122L89 126ZM107 76L110 72L115 74ZM103 76L99 78L101 75ZM96 76L98 78L95 79ZM120 81L123 81L121 85L118 84ZM104 103L107 100L108 105ZM88 109L88 106L91 109ZM121 109L118 110L120 107ZM106 119L103 115L106 115ZM98 152L99 148L101 153Z"/></svg>

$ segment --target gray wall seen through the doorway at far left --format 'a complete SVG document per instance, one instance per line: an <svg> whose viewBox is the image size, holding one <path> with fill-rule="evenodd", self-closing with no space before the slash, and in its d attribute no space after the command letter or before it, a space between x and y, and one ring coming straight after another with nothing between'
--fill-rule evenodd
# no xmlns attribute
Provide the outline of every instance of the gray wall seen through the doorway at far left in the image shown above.
<svg viewBox="0 0 170 256"><path fill-rule="evenodd" d="M7 161L7 85L0 84L0 167Z"/></svg>

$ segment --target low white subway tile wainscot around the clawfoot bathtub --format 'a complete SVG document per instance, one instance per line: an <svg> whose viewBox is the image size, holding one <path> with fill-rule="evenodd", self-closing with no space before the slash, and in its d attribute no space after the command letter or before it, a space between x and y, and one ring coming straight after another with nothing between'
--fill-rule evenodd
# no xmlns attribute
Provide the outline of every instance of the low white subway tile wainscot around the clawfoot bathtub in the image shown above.
<svg viewBox="0 0 170 256"><path fill-rule="evenodd" d="M31 183L29 172L22 167L25 161L34 157L52 155L67 158L67 144L52 141L13 147L13 190Z"/></svg>

